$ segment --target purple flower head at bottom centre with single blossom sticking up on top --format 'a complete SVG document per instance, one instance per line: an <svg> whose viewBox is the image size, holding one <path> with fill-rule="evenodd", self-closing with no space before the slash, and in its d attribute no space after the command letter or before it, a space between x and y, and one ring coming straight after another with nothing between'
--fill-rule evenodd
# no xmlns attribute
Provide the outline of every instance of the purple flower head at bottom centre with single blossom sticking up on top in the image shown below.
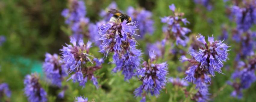
<svg viewBox="0 0 256 102"><path fill-rule="evenodd" d="M151 95L158 96L162 88L164 88L168 73L167 62L156 64L154 51L149 52L149 61L142 63L142 68L138 68L136 75L143 82L139 88L134 91L135 96L142 96L143 90Z"/></svg>

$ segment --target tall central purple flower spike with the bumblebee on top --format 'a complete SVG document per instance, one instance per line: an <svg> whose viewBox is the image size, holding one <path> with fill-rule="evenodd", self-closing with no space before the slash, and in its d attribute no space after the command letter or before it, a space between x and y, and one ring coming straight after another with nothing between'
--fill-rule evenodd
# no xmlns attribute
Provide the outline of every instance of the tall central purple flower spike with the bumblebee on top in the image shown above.
<svg viewBox="0 0 256 102"><path fill-rule="evenodd" d="M112 70L117 72L122 70L124 79L128 80L134 75L134 70L139 67L141 51L136 49L136 41L133 35L136 35L136 22L108 22L101 25L99 34L102 44L100 52L106 56L108 52L113 52L113 63L116 67Z"/></svg>

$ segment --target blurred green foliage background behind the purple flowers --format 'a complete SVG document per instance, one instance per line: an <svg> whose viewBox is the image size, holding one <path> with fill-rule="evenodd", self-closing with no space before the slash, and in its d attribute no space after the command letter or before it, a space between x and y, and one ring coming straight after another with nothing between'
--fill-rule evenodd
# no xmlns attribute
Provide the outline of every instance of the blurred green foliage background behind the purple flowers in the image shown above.
<svg viewBox="0 0 256 102"><path fill-rule="evenodd" d="M85 0L87 17L91 22L97 22L101 18L98 13L101 9L105 9L111 0ZM214 0L213 9L206 10L202 5L195 4L193 0L116 0L115 1L120 10L126 11L127 7L133 6L144 7L146 10L153 12L153 19L155 20L155 33L153 35L146 35L144 40L139 41L139 49L145 52L146 42L153 43L160 41L162 36L163 23L160 22L160 17L171 14L168 5L174 3L180 12L185 13L185 18L190 24L186 27L192 30L189 35L214 35L217 38L221 34L221 25L226 24L231 27L236 26L226 16L225 4L222 0ZM123 80L123 75L119 73L111 73L114 65L107 64L105 61L103 68L97 71L97 75L101 76L98 79L101 88L98 90L91 82L87 82L86 87L82 88L77 83L72 81L63 82L69 88L65 93L65 99L58 100L56 94L60 89L49 86L49 83L44 81L44 74L42 72L42 62L45 58L45 53L59 54L59 49L62 45L69 43L69 36L61 30L61 27L67 26L64 24L64 17L61 16L61 11L67 8L67 0L1 0L0 1L0 35L6 37L6 42L0 46L0 83L6 82L12 91L10 98L11 102L26 102L27 98L23 94L23 79L26 74L31 72L38 72L41 76L41 84L48 93L48 101L65 101L70 102L74 100L75 96L84 95L89 100L96 102L113 102L125 101L133 102L139 101L141 98L134 98L133 91L139 87L141 82L136 78L129 82ZM255 28L255 27L254 27ZM228 29L230 32L230 30ZM230 37L231 35L229 35ZM223 68L223 73L218 74L212 78L210 88L211 101L255 101L256 100L256 85L255 83L245 91L244 97L241 100L230 97L233 88L226 85L231 73L234 71L233 59L236 56L236 44L229 43L231 39L225 42L231 45L230 56L231 60L225 63L229 69ZM102 57L97 52L98 48L91 49L93 54ZM168 52L168 51L167 51ZM143 55L146 60L147 55ZM168 61L169 75L172 77L184 78L184 73L179 73L177 67L182 64L172 58L160 59L158 62ZM186 67L182 66L185 70ZM168 83L166 89L163 89L160 96L147 97L147 101L158 102L172 102L172 101L191 101L189 97L184 95L183 89L174 87ZM190 84L187 90L196 92L195 85Z"/></svg>

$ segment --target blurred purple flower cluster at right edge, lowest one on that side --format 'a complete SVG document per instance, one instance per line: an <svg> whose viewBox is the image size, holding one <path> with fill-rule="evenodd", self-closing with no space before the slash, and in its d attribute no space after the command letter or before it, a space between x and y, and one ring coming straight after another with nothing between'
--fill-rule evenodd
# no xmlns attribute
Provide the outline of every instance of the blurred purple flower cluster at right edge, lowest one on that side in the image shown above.
<svg viewBox="0 0 256 102"><path fill-rule="evenodd" d="M239 69L237 69L231 76L233 82L228 81L228 84L234 88L231 96L241 99L243 95L242 90L249 88L251 84L256 81L256 55L248 59L247 64L242 62L239 63L238 66Z"/></svg>

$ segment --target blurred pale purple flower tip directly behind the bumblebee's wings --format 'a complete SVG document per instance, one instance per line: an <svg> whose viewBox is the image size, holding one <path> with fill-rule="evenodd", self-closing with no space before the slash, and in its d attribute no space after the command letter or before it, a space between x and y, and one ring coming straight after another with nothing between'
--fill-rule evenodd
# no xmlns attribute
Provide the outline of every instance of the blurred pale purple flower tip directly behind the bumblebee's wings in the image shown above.
<svg viewBox="0 0 256 102"><path fill-rule="evenodd" d="M116 2L111 2L111 4L108 5L108 7L106 7L104 10L101 10L101 12L99 13L99 15L103 18L103 20L105 22L109 21L109 19L111 18L111 16L113 16L113 14L111 14L110 12L108 12L108 10L110 9L117 9L117 4Z"/></svg>

